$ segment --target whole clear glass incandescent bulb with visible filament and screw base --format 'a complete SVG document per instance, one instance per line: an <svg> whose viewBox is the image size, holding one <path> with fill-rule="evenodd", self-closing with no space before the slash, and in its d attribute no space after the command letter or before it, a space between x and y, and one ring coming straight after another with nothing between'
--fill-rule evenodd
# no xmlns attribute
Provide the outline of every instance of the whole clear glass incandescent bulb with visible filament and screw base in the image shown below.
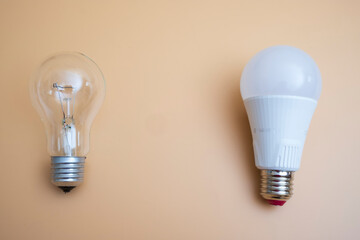
<svg viewBox="0 0 360 240"><path fill-rule="evenodd" d="M103 74L81 53L54 55L32 78L30 96L45 126L52 183L69 192L83 181L90 127L105 96Z"/></svg>

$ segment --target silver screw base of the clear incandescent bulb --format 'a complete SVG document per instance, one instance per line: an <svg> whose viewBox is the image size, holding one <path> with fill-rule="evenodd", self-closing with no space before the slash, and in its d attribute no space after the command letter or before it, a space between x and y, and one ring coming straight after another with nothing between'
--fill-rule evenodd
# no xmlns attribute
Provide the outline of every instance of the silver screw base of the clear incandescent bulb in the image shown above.
<svg viewBox="0 0 360 240"><path fill-rule="evenodd" d="M51 182L64 192L69 192L71 189L80 185L84 179L85 158L86 157L52 156Z"/></svg>

